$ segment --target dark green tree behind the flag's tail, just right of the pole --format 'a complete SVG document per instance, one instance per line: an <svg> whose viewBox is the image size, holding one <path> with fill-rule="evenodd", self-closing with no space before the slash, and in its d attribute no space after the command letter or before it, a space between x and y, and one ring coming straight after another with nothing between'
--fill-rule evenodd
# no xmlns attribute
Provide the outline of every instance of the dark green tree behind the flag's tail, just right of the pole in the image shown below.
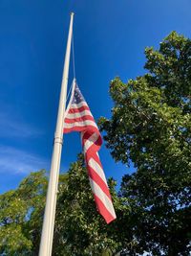
<svg viewBox="0 0 191 256"><path fill-rule="evenodd" d="M109 185L117 208L116 182L110 179ZM115 223L107 225L96 210L82 154L71 165L58 195L53 255L114 255L119 245Z"/></svg>

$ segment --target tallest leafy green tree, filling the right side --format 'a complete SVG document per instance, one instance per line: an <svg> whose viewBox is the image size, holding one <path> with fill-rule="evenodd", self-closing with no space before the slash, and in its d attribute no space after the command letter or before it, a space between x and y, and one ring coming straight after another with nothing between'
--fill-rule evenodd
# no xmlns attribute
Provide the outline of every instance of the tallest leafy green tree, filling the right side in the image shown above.
<svg viewBox="0 0 191 256"><path fill-rule="evenodd" d="M100 118L116 161L137 169L122 180L131 208L125 237L152 255L188 255L191 238L191 40L173 32L159 50L145 49L148 74L111 82L111 119ZM134 223L133 223L134 222ZM126 224L126 228L125 228Z"/></svg>

